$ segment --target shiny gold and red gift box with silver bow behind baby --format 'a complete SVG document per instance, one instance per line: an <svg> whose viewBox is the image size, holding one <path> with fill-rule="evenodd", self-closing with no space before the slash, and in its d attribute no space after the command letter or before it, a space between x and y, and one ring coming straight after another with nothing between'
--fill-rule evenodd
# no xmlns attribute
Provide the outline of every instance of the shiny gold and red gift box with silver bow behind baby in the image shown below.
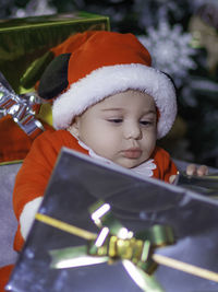
<svg viewBox="0 0 218 292"><path fill-rule="evenodd" d="M33 140L52 127L51 106L35 85L51 61L48 50L88 30L108 31L109 19L75 12L0 21L0 164L22 161Z"/></svg>

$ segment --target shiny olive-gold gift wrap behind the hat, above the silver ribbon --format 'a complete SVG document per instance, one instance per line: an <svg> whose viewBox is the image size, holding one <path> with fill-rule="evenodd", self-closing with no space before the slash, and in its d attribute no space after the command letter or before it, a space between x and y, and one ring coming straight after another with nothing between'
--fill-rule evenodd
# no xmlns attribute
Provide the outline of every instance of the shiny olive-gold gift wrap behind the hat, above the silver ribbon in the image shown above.
<svg viewBox="0 0 218 292"><path fill-rule="evenodd" d="M33 61L70 35L88 30L109 30L109 19L75 12L0 21L0 71L16 93L23 93L21 80Z"/></svg>

